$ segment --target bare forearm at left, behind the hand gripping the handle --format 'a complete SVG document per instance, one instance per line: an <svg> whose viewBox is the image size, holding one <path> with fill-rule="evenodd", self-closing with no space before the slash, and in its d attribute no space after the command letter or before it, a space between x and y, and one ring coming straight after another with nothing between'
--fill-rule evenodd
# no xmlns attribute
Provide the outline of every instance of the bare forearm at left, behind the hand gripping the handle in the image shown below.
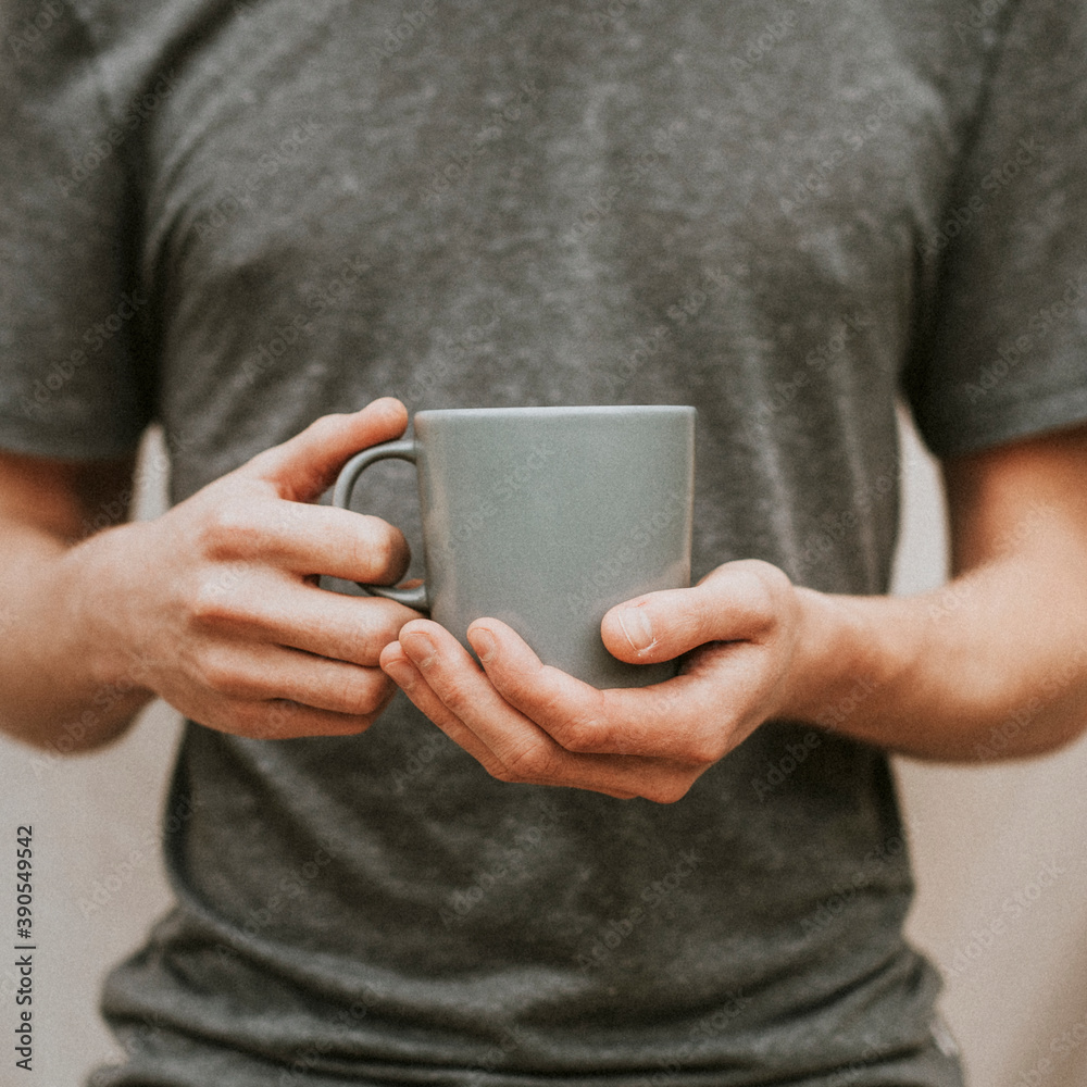
<svg viewBox="0 0 1087 1087"><path fill-rule="evenodd" d="M0 729L62 753L124 730L152 697L138 659L110 640L109 529L70 546L38 527L8 523L0 537Z"/></svg>

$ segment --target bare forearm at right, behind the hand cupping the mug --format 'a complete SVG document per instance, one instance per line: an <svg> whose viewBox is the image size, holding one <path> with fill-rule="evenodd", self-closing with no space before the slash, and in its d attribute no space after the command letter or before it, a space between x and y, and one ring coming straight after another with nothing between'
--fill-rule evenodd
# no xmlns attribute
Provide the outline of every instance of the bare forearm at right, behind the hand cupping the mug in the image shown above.
<svg viewBox="0 0 1087 1087"><path fill-rule="evenodd" d="M787 714L924 759L1059 747L1087 723L1085 559L1070 539L916 597L801 590Z"/></svg>

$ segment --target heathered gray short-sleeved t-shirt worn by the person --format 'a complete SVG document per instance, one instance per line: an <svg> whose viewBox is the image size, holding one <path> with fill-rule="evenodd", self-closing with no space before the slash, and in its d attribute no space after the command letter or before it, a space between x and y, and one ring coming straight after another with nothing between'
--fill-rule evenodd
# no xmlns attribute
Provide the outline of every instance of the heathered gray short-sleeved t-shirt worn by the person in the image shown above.
<svg viewBox="0 0 1087 1087"><path fill-rule="evenodd" d="M0 17L8 448L158 421L182 499L390 392L692 403L695 576L874 594L900 391L941 455L1087 417L1082 3ZM405 482L367 508L410 525ZM102 1087L959 1083L885 757L813 724L671 807L495 782L401 697L347 739L189 724L164 838Z"/></svg>

